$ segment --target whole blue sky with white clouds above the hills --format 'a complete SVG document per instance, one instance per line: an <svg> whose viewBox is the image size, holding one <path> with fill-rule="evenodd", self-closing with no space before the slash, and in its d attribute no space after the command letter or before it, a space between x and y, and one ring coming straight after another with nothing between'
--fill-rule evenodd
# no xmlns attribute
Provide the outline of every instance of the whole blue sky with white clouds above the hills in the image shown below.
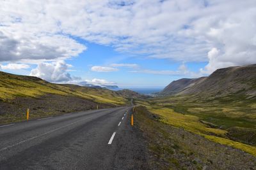
<svg viewBox="0 0 256 170"><path fill-rule="evenodd" d="M256 63L255 0L0 0L0 70L163 88Z"/></svg>

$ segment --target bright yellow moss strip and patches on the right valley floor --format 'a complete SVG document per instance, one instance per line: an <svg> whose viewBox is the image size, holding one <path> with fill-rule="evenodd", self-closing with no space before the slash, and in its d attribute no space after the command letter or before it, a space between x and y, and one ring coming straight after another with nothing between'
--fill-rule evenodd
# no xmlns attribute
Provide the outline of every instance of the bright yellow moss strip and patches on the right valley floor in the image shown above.
<svg viewBox="0 0 256 170"><path fill-rule="evenodd" d="M211 128L209 125L204 124L204 121L200 121L200 117L196 115L189 115L188 113L184 113L184 110L178 111L173 110L172 108L167 108L167 106L163 106L163 103L154 103L148 101L136 101L137 104L141 106L145 106L148 111L160 116L160 121L164 124L170 124L174 127L183 128L186 131L193 132L195 134L199 134L200 136L204 136L205 138L214 141L216 143L220 143L222 145L232 146L234 148L238 148L243 150L244 152L251 153L256 156L256 147L252 145L246 145L244 143L233 141L228 139L226 134L227 131L225 129ZM167 104L166 104L167 105ZM217 108L215 108L217 110ZM209 108L196 108L190 109L190 111L209 111ZM225 117L227 117L227 113L234 111L230 108L218 108L219 111L223 111ZM240 114L240 113L239 113ZM239 115L238 114L238 115ZM234 111L234 115L237 115L237 112ZM234 117L232 115L232 117ZM205 116L205 115L204 115ZM231 124L231 123L229 123ZM236 122L232 122L232 124L236 124Z"/></svg>

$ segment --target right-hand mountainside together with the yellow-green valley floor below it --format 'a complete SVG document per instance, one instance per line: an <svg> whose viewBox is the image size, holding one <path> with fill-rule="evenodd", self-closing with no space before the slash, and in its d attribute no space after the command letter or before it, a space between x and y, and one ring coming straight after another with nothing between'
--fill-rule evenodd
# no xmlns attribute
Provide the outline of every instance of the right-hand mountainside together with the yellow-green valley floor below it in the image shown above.
<svg viewBox="0 0 256 170"><path fill-rule="evenodd" d="M255 85L256 64L227 67L196 82L173 81L165 94L175 95L148 100L146 105L166 124L256 155ZM182 88L175 91L177 87Z"/></svg>

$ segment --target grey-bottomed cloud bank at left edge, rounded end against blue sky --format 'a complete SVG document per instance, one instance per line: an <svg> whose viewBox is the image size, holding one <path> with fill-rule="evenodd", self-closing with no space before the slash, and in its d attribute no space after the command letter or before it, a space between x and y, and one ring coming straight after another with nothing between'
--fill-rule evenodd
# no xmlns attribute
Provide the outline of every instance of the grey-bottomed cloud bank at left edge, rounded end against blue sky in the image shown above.
<svg viewBox="0 0 256 170"><path fill-rule="evenodd" d="M86 49L73 39L61 35L43 35L39 38L25 34L19 38L13 36L7 36L0 30L0 61L68 59Z"/></svg>

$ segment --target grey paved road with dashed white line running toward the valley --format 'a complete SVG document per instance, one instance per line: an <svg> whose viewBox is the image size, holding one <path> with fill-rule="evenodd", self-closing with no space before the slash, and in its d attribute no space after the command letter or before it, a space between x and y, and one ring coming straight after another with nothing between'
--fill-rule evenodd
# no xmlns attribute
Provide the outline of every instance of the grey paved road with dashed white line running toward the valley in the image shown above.
<svg viewBox="0 0 256 170"><path fill-rule="evenodd" d="M147 169L130 116L122 107L0 126L0 169Z"/></svg>

